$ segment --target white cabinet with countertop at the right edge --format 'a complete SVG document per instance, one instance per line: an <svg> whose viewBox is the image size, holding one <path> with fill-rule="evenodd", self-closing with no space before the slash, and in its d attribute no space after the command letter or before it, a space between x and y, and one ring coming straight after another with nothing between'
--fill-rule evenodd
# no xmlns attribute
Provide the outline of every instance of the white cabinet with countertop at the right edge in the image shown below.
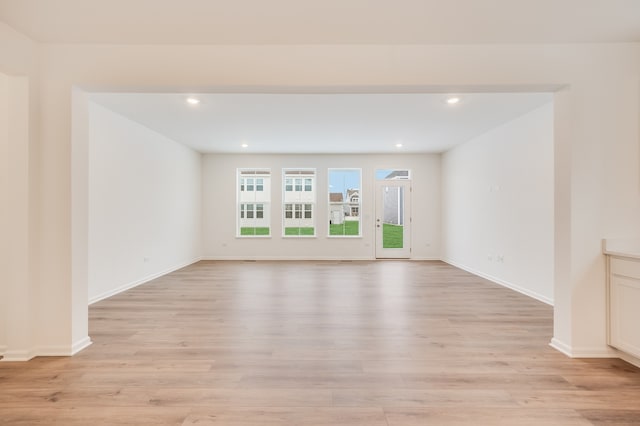
<svg viewBox="0 0 640 426"><path fill-rule="evenodd" d="M640 358L640 259L608 261L609 344Z"/></svg>

